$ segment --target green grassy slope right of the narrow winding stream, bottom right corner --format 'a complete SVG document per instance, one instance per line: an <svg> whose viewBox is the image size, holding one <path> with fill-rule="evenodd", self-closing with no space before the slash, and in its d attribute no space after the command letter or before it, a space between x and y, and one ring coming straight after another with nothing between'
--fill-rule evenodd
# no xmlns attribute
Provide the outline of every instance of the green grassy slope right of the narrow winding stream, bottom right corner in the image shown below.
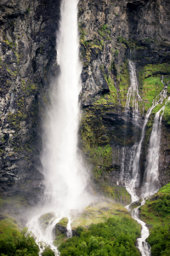
<svg viewBox="0 0 170 256"><path fill-rule="evenodd" d="M170 183L153 195L141 207L141 218L150 225L147 241L152 255L168 256L170 253Z"/></svg>

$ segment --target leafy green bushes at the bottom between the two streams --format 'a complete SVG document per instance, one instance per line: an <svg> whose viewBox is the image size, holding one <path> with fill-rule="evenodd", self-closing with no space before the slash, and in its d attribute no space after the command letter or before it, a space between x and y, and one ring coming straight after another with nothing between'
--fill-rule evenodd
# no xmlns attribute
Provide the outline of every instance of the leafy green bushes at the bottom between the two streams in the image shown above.
<svg viewBox="0 0 170 256"><path fill-rule="evenodd" d="M80 231L80 229L79 229ZM68 255L139 255L135 247L139 224L130 218L109 218L105 223L91 224L59 246L61 256Z"/></svg>

